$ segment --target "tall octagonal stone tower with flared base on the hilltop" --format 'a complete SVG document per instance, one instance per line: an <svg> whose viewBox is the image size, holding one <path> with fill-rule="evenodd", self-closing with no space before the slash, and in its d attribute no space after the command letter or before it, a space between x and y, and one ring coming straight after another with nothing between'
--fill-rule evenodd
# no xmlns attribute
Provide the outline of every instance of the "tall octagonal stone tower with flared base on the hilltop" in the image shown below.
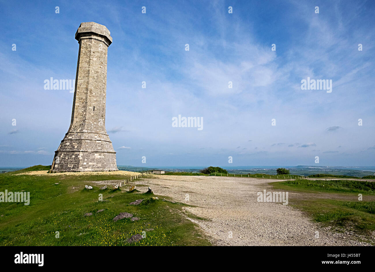
<svg viewBox="0 0 375 272"><path fill-rule="evenodd" d="M75 39L80 49L72 120L50 172L115 171L116 152L105 129L107 50L112 37L104 25L83 22Z"/></svg>

